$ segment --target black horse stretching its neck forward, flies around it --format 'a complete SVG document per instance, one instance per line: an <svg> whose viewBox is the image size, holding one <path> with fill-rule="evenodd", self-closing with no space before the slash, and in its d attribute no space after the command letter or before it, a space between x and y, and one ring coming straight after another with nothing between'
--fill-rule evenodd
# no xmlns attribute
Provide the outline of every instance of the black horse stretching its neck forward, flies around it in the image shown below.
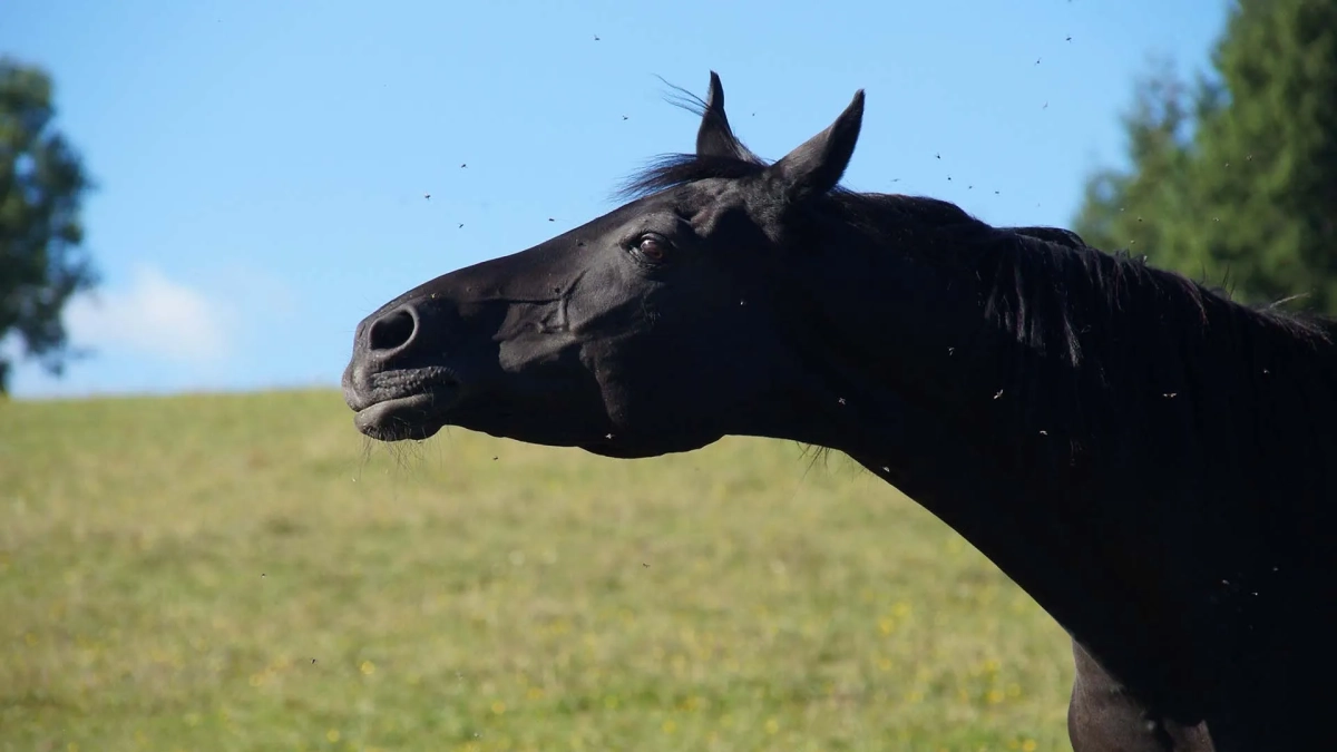
<svg viewBox="0 0 1337 752"><path fill-rule="evenodd" d="M711 74L695 154L630 203L364 320L357 428L612 458L725 435L837 450L1068 630L1079 752L1322 744L1337 326L1064 230L845 190L862 91L774 163L723 103Z"/></svg>

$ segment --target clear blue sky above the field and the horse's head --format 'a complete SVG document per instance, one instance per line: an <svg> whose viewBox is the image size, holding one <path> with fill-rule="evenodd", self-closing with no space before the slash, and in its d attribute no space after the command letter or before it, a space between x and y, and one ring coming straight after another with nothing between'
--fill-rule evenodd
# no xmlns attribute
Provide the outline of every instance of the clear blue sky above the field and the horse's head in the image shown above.
<svg viewBox="0 0 1337 752"><path fill-rule="evenodd" d="M0 52L52 72L57 124L99 185L84 219L104 280L67 312L94 356L63 379L21 364L12 391L337 385L381 302L608 211L647 158L690 150L697 122L655 76L703 95L718 71L735 130L769 158L865 88L849 187L1067 225L1083 178L1122 162L1134 76L1151 55L1203 67L1225 15L1213 0L5 0Z"/></svg>

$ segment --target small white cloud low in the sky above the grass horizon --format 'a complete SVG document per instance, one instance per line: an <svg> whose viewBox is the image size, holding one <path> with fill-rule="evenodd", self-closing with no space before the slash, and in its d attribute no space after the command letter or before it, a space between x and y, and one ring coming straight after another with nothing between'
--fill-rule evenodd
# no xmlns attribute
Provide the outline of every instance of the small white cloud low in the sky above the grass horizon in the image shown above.
<svg viewBox="0 0 1337 752"><path fill-rule="evenodd" d="M70 301L66 326L76 347L131 349L182 363L214 363L230 344L223 306L203 292L139 265L128 289Z"/></svg>

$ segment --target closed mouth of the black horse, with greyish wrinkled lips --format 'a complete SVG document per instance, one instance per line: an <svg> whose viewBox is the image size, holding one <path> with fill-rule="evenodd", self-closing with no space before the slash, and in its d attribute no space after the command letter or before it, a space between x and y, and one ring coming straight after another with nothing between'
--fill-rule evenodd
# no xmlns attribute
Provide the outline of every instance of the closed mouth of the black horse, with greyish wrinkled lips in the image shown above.
<svg viewBox="0 0 1337 752"><path fill-rule="evenodd" d="M431 439L460 400L460 383L439 369L373 373L356 381L365 381L365 387L344 391L354 411L353 426L378 442Z"/></svg>

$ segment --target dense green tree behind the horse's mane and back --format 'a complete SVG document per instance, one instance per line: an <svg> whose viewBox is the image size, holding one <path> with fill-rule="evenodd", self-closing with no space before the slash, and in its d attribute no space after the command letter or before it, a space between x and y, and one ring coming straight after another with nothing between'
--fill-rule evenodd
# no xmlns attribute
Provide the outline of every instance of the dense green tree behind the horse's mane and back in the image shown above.
<svg viewBox="0 0 1337 752"><path fill-rule="evenodd" d="M1074 229L1238 297L1337 313L1337 0L1239 0L1210 75L1136 83L1128 170L1086 185Z"/></svg>

